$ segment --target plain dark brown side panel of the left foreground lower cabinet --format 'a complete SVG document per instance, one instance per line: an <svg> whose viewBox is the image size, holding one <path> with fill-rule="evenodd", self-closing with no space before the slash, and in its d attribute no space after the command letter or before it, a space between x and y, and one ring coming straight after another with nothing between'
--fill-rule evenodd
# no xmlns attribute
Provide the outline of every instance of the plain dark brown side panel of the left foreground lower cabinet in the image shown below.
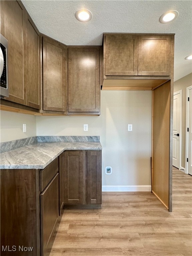
<svg viewBox="0 0 192 256"><path fill-rule="evenodd" d="M1 256L40 256L39 170L1 170Z"/></svg>

